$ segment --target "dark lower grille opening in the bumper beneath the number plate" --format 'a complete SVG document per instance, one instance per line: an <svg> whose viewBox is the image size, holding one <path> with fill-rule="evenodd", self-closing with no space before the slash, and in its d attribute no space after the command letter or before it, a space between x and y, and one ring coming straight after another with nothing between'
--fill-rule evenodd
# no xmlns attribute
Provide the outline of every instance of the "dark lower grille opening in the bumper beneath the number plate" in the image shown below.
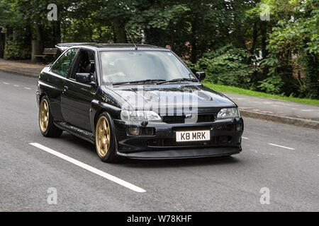
<svg viewBox="0 0 319 226"><path fill-rule="evenodd" d="M225 145L230 142L230 136L212 136L211 141L176 142L175 138L158 138L147 141L149 147L185 147L185 146L211 146Z"/></svg>

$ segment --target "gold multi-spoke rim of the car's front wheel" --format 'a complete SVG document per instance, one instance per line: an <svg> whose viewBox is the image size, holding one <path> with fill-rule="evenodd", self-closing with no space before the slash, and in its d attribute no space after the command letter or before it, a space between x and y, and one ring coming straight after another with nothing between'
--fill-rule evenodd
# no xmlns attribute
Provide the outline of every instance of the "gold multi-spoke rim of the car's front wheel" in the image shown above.
<svg viewBox="0 0 319 226"><path fill-rule="evenodd" d="M101 157L105 157L111 142L111 131L108 119L101 116L96 124L95 143L96 149Z"/></svg>

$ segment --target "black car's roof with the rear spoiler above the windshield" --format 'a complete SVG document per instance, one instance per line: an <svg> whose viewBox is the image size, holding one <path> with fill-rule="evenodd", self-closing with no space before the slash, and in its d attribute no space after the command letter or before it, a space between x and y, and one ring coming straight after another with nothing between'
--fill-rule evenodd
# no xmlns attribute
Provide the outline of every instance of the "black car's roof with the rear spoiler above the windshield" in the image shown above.
<svg viewBox="0 0 319 226"><path fill-rule="evenodd" d="M96 42L74 42L74 43L60 43L55 45L61 51L68 49L69 47L88 47L90 49L96 49L98 51L110 51L110 50L136 50L135 45L131 43L96 43ZM136 44L137 50L160 50L169 51L169 49L163 47L157 47L150 44Z"/></svg>

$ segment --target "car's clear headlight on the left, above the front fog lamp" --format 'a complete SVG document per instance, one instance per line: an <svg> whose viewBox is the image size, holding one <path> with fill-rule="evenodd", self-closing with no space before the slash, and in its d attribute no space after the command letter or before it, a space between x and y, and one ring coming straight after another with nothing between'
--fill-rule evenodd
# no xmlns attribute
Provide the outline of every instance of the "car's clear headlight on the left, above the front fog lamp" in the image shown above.
<svg viewBox="0 0 319 226"><path fill-rule="evenodd" d="M162 118L153 111L121 111L121 119L125 121L161 121Z"/></svg>

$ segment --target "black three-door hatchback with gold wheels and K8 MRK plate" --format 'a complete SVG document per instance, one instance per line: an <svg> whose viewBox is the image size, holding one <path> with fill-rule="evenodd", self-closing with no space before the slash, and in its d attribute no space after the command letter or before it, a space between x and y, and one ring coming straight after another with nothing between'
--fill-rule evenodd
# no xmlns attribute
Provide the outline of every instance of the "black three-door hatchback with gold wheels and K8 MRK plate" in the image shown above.
<svg viewBox="0 0 319 226"><path fill-rule="evenodd" d="M72 133L101 160L240 153L237 105L202 85L169 49L146 44L57 44L64 52L38 81L43 136Z"/></svg>

